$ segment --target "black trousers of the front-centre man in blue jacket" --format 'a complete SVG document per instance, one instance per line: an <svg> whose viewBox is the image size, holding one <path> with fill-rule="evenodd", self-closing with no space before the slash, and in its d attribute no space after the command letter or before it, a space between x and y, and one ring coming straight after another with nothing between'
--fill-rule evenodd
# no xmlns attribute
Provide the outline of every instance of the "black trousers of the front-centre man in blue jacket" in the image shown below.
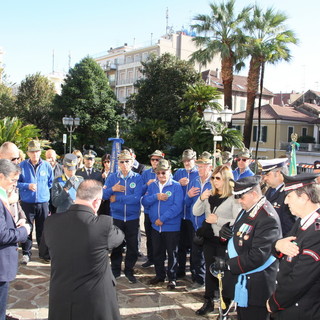
<svg viewBox="0 0 320 320"><path fill-rule="evenodd" d="M168 256L168 280L177 279L179 236L180 231L158 232L152 229L153 262L156 277L159 279L166 278L164 266L166 254Z"/></svg>

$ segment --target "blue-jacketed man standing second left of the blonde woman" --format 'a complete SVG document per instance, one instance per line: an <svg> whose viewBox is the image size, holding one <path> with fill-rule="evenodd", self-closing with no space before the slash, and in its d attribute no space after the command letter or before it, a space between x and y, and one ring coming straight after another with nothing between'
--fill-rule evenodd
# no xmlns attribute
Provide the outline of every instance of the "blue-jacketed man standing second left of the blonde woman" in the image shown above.
<svg viewBox="0 0 320 320"><path fill-rule="evenodd" d="M184 168L178 169L173 175L173 179L178 181L183 190L183 198L189 191L190 182L199 176L198 168L195 164L197 153L192 149L186 149L182 153L181 162ZM180 240L178 249L178 271L177 278L186 275L187 252L191 253L193 226L191 222L190 207L187 207L183 201L182 220L180 228Z"/></svg>

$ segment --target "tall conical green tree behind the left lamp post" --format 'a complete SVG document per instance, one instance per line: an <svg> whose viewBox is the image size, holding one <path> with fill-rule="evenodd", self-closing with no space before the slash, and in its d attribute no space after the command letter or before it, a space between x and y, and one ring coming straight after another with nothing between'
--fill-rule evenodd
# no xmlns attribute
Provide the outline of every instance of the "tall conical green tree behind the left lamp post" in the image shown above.
<svg viewBox="0 0 320 320"><path fill-rule="evenodd" d="M107 76L89 57L70 69L56 103L60 122L64 115L80 118L73 135L79 148L105 146L108 137L115 135L116 122L123 121Z"/></svg>

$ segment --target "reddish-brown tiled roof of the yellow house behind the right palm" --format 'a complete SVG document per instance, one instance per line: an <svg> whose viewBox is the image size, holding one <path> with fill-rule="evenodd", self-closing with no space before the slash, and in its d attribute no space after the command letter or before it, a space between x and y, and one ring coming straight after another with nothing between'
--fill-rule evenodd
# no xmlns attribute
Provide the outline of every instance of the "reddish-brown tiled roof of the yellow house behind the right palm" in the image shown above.
<svg viewBox="0 0 320 320"><path fill-rule="evenodd" d="M244 120L246 112L241 111L232 116L232 120ZM258 119L258 108L254 109L253 119ZM312 123L316 118L306 115L293 107L265 104L261 106L261 120L290 120Z"/></svg>

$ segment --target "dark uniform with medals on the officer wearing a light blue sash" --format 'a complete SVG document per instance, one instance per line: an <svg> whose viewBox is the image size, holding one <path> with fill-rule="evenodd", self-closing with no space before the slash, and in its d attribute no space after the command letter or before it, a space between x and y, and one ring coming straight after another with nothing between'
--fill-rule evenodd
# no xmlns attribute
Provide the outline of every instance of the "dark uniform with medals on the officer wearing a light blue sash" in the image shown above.
<svg viewBox="0 0 320 320"><path fill-rule="evenodd" d="M239 274L262 266L271 255L273 242L281 237L280 220L272 205L265 200L258 210L256 206L236 219L233 240L238 256L227 260L230 271L223 278L223 295L230 299L234 298ZM251 230L240 232L244 224ZM275 288L277 267L275 261L265 270L246 276L249 306L265 306Z"/></svg>

